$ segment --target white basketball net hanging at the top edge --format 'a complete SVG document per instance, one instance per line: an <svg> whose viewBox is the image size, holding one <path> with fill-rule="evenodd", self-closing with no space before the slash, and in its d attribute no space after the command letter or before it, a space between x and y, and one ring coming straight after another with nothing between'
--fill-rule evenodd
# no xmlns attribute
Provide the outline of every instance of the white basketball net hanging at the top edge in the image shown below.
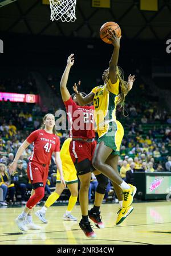
<svg viewBox="0 0 171 256"><path fill-rule="evenodd" d="M49 0L51 8L51 21L75 22L76 0Z"/></svg>

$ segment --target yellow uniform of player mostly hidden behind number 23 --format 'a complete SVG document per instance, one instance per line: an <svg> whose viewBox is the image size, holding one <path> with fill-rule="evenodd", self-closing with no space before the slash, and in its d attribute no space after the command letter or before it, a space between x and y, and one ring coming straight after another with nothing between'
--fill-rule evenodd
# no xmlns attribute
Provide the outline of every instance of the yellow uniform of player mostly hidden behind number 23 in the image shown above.
<svg viewBox="0 0 171 256"><path fill-rule="evenodd" d="M66 184L72 184L78 182L78 177L76 176L76 169L72 162L70 156L70 142L71 138L68 138L64 141L62 148L60 149L60 158L62 160L62 169L63 169L63 176ZM60 174L57 170L56 176L56 183L60 183Z"/></svg>

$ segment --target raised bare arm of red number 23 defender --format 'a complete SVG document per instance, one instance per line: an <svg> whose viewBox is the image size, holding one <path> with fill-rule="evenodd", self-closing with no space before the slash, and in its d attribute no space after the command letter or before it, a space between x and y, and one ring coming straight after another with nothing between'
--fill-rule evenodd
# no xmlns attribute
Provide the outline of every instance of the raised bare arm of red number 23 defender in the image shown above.
<svg viewBox="0 0 171 256"><path fill-rule="evenodd" d="M70 73L70 68L74 65L74 54L71 54L67 59L67 66L63 72L62 78L60 80L60 93L62 95L62 100L67 101L70 99L71 95L67 89L68 76Z"/></svg>

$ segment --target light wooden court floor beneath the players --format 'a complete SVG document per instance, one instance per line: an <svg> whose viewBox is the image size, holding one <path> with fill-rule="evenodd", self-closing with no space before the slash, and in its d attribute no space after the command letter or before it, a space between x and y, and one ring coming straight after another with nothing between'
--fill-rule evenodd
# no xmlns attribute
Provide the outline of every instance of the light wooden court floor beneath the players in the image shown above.
<svg viewBox="0 0 171 256"><path fill-rule="evenodd" d="M23 233L14 219L22 208L0 208L0 245L157 245L171 244L171 204L167 201L133 204L134 210L123 222L116 226L118 204L103 204L101 216L104 229L94 231L97 237L87 238L80 230L79 221L63 221L66 206L51 206L43 224L34 214L34 222L41 230ZM91 205L89 205L91 208ZM36 210L40 209L39 206ZM80 206L75 206L72 214L80 220Z"/></svg>

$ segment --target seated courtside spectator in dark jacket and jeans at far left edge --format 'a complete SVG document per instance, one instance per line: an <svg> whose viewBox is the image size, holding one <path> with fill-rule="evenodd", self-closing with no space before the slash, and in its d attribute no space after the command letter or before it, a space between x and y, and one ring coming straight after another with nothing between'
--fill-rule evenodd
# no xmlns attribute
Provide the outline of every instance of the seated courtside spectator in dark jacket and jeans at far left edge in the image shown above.
<svg viewBox="0 0 171 256"><path fill-rule="evenodd" d="M6 165L0 164L0 188L3 190L3 198L1 198L0 204L6 206L5 202L7 192L9 191L10 204L14 202L15 186L11 184L10 174L7 172Z"/></svg>

